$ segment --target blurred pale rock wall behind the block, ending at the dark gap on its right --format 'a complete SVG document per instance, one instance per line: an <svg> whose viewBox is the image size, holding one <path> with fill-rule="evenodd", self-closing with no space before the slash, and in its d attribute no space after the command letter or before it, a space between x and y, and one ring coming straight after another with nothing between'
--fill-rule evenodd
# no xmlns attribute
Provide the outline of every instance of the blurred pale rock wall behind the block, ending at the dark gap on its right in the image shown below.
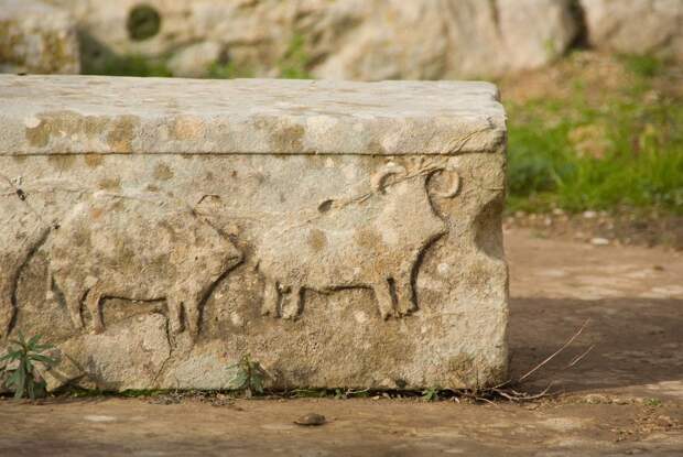
<svg viewBox="0 0 683 457"><path fill-rule="evenodd" d="M219 44L219 55L241 74L261 76L281 73L292 52L322 78L498 76L552 62L578 32L572 0L150 0L161 29L139 41L127 28L138 0L52 2L115 53L180 53L177 66L187 53L205 56L207 48L196 46L209 42L208 51ZM206 72L205 62L195 62L192 72ZM180 69L188 74L187 66Z"/></svg>

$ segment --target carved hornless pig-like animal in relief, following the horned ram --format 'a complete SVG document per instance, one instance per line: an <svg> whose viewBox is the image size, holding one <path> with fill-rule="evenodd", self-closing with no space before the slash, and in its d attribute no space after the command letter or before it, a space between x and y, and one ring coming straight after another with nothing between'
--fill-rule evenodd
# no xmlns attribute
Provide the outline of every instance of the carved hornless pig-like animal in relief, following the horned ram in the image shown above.
<svg viewBox="0 0 683 457"><path fill-rule="evenodd" d="M29 252L46 253L48 294L53 287L62 292L76 328L84 327L80 309L85 302L93 330L102 331L100 303L118 297L165 300L171 330L183 329L184 309L187 329L193 336L198 334L202 303L242 255L189 208L169 209L165 204L96 193L76 205L58 226L37 230ZM150 210L150 205L158 208ZM24 264L25 260L17 268ZM11 293L11 287L6 290ZM12 297L3 300L11 303Z"/></svg>

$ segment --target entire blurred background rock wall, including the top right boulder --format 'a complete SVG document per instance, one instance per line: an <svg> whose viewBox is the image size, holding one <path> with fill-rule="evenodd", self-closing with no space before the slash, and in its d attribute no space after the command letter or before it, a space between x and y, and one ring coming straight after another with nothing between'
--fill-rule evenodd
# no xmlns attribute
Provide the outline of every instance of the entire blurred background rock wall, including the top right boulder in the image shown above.
<svg viewBox="0 0 683 457"><path fill-rule="evenodd" d="M683 0L45 1L74 18L86 73L138 56L169 76L490 78L583 45L683 59Z"/></svg>

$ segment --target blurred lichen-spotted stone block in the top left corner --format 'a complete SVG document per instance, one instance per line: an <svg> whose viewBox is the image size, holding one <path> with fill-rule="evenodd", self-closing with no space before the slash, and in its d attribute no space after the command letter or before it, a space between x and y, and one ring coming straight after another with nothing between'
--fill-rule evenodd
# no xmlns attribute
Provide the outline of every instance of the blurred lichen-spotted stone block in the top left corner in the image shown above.
<svg viewBox="0 0 683 457"><path fill-rule="evenodd" d="M36 0L0 0L0 73L80 72L76 24Z"/></svg>

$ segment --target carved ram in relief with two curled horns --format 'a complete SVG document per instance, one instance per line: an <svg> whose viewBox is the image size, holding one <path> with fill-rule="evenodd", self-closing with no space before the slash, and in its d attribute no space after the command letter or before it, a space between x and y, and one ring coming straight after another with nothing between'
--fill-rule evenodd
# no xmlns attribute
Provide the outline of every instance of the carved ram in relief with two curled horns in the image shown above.
<svg viewBox="0 0 683 457"><path fill-rule="evenodd" d="M431 197L452 198L459 189L453 170L445 192L427 189L446 166L408 172L389 163L371 177L371 192L349 202L325 200L321 216L291 229L275 227L258 247L265 278L262 314L295 317L305 290L332 292L366 287L375 292L382 318L416 308L414 270L422 252L447 232Z"/></svg>

